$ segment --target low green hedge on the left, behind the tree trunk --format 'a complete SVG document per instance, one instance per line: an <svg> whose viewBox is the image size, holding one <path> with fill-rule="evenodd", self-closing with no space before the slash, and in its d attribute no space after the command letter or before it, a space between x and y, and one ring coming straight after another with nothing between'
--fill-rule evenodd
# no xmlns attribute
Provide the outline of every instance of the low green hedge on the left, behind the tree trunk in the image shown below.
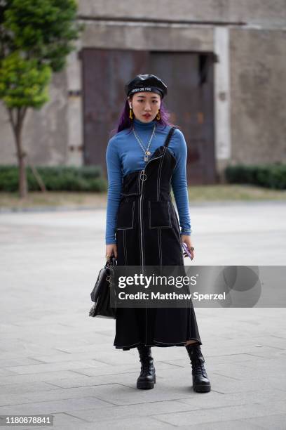
<svg viewBox="0 0 286 430"><path fill-rule="evenodd" d="M107 181L102 176L100 166L83 167L36 167L41 180L50 191L95 191L107 190ZM0 191L18 191L18 167L0 166ZM27 167L29 191L39 191L40 187L32 169Z"/></svg>

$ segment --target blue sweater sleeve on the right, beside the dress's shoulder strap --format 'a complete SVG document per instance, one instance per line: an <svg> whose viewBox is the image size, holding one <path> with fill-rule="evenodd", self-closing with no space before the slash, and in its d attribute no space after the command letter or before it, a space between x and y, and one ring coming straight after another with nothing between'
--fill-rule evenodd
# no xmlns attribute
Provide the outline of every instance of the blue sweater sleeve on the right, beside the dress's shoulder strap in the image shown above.
<svg viewBox="0 0 286 430"><path fill-rule="evenodd" d="M179 214L181 235L191 235L191 219L189 215L189 197L186 183L186 156L187 147L184 134L179 129L175 130L175 157L177 164L172 174L172 190Z"/></svg>

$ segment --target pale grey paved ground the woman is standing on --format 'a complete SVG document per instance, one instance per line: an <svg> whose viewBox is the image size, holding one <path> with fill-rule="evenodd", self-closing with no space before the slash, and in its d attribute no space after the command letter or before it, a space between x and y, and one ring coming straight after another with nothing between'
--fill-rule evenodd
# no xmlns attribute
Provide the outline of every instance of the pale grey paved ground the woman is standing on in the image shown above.
<svg viewBox="0 0 286 430"><path fill-rule="evenodd" d="M193 205L194 263L285 265L285 219L282 202ZM88 316L104 223L104 209L0 214L0 415L52 414L59 430L285 429L285 308L198 308L212 391L193 392L179 347L153 348L157 384L136 389L137 351Z"/></svg>

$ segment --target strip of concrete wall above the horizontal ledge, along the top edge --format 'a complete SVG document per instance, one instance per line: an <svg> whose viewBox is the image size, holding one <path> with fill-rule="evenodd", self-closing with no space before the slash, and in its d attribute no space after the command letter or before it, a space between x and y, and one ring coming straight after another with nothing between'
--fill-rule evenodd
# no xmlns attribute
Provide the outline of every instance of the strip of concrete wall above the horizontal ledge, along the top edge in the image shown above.
<svg viewBox="0 0 286 430"><path fill-rule="evenodd" d="M137 20L247 22L285 25L285 0L80 0L79 14L96 18Z"/></svg>

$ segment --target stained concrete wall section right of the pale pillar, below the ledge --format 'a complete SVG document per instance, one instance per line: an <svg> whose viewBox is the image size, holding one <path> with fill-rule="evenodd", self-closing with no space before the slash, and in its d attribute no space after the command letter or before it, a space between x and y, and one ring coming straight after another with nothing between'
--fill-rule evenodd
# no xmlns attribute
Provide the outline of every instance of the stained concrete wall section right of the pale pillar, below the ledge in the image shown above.
<svg viewBox="0 0 286 430"><path fill-rule="evenodd" d="M232 162L286 162L286 32L230 34Z"/></svg>

